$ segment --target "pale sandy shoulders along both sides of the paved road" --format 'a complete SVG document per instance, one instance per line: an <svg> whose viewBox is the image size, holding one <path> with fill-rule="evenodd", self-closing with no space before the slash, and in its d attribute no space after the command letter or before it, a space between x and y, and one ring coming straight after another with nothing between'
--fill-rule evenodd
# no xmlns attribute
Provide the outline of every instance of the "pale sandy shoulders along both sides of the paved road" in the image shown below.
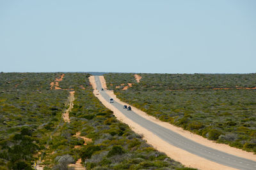
<svg viewBox="0 0 256 170"><path fill-rule="evenodd" d="M172 159L175 159L185 166L188 167L195 167L198 169L234 169L231 167L223 166L221 164L217 164L215 162L211 162L210 160L204 159L202 157L198 157L197 155L193 155L192 153L186 152L185 150L182 150L180 148L177 148L175 146L170 145L166 141L163 141L163 139L155 136L152 132L148 131L147 129L141 127L140 125L132 122L129 118L125 117L120 111L118 111L113 105L109 104L108 101L106 101L102 96L100 96L99 91L96 90L96 84L95 84L95 78L94 76L90 76L90 82L93 86L93 94L95 94L96 97L99 98L99 100L109 108L110 110L114 111L114 115L118 120L121 120L125 124L129 125L129 127L132 128L132 130L138 134L143 134L143 138L147 140L147 143L150 145L154 146L157 150L160 152L166 153L168 157L171 157ZM103 76L100 76L100 81L104 80ZM101 83L103 84L106 81L102 81ZM106 84L104 85L106 87ZM102 86L103 87L103 86ZM116 98L115 94L113 91L105 90L109 96L113 97L113 99L121 104L126 104L119 99ZM98 94L98 95L97 95ZM251 152L245 152L243 150L239 150L237 148L232 148L228 145L224 144L218 144L214 143L213 141L209 141L202 136L198 136L196 134L191 134L189 131L184 131L180 127L175 127L171 124L168 124L167 122L161 122L160 120L157 120L155 117L147 115L147 113L138 110L137 108L132 107L132 110L136 112L138 115L141 117L147 118L147 120L150 120L156 124L159 124L163 127L166 127L167 129L170 129L174 132L179 133L180 135L184 136L185 138L189 138L193 141L196 141L197 143L200 143L205 146L209 146L211 148L214 148L216 150L221 150L223 152L230 153L232 155L237 155L238 157L243 157L246 159L251 159L251 160L256 160L256 155L253 155ZM154 137L154 138L152 138Z"/></svg>

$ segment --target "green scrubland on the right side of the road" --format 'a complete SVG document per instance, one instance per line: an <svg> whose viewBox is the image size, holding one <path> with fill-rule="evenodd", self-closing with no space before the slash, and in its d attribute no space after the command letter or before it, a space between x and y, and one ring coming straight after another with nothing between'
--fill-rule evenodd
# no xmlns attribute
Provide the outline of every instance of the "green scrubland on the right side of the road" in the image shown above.
<svg viewBox="0 0 256 170"><path fill-rule="evenodd" d="M140 83L132 76L104 74L108 89L122 101L205 138L256 153L256 89L250 89L256 87L256 74L140 74ZM127 83L134 85L122 90Z"/></svg>

